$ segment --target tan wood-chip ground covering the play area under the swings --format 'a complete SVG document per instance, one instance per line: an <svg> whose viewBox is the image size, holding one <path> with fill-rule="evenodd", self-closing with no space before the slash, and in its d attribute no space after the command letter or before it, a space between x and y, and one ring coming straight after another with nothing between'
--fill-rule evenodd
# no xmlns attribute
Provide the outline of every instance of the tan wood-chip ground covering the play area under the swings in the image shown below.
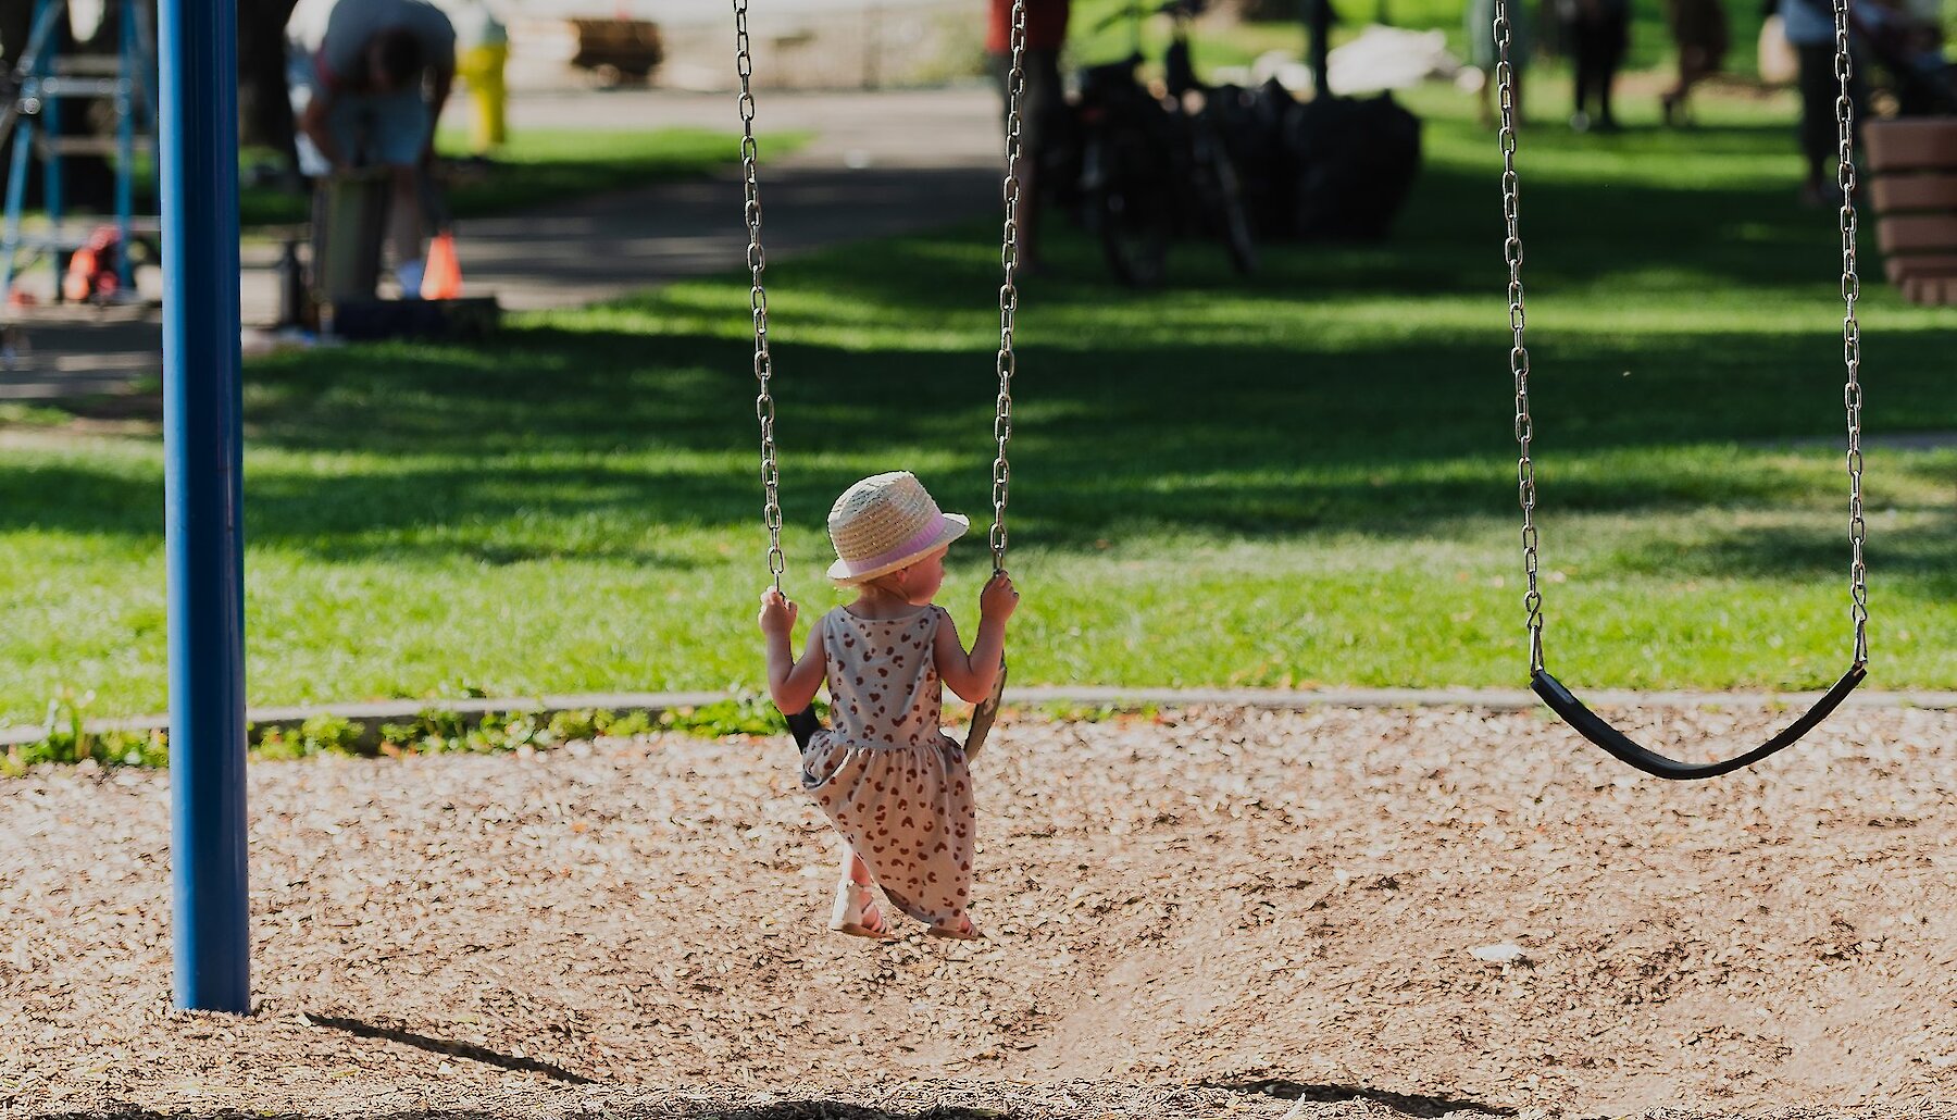
<svg viewBox="0 0 1957 1120"><path fill-rule="evenodd" d="M1957 1118L1957 713L1683 785L1434 709L975 771L992 940L875 944L785 740L256 766L247 1018L170 1010L164 773L0 781L0 1114Z"/></svg>

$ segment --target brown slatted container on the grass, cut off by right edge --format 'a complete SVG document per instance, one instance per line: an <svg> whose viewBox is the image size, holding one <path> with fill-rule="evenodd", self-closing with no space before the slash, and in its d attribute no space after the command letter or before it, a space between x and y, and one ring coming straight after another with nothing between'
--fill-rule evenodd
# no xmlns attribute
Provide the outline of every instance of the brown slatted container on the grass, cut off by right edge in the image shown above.
<svg viewBox="0 0 1957 1120"><path fill-rule="evenodd" d="M1877 245L1912 303L1957 303L1957 117L1869 121Z"/></svg>

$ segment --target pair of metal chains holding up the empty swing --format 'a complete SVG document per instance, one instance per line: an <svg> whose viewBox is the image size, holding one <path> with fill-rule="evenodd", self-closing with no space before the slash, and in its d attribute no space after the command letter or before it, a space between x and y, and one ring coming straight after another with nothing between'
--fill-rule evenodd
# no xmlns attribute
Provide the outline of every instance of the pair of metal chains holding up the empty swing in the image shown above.
<svg viewBox="0 0 1957 1120"><path fill-rule="evenodd" d="M1836 139L1838 168L1836 182L1842 188L1842 360L1847 366L1847 384L1842 390L1842 403L1847 409L1847 478L1849 478L1849 615L1855 621L1855 664L1869 660L1869 572L1863 566L1861 546L1867 537L1861 511L1861 325L1855 321L1855 300L1861 298L1861 282L1855 276L1855 108L1849 100L1849 78L1853 61L1849 55L1847 2L1834 0L1836 18ZM1509 262L1509 329L1515 341L1509 349L1509 370L1515 374L1515 443L1517 443L1517 490L1523 505L1523 572L1528 578L1528 591L1523 605L1528 611L1528 670L1542 670L1542 591L1538 587L1536 556L1536 470L1528 454L1534 437L1534 421L1528 415L1528 347L1523 343L1523 235L1519 225L1521 184L1515 174L1515 82L1509 63L1509 0L1495 0L1495 80L1501 100L1501 213L1509 225L1503 243L1503 257Z"/></svg>

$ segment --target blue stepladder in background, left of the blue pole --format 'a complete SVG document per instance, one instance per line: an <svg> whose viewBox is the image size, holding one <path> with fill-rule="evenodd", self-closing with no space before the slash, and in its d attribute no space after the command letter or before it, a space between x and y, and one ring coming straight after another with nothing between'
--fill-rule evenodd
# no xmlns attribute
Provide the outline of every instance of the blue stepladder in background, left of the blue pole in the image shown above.
<svg viewBox="0 0 1957 1120"><path fill-rule="evenodd" d="M74 155L106 155L115 161L117 292L131 296L129 239L157 235L155 215L135 215L137 157L157 155L157 35L141 0L106 0L104 22L117 18L117 53L63 55L55 51L55 25L68 0L35 0L27 45L14 72L0 76L12 92L0 102L0 149L10 151L6 225L0 233L0 321L12 311L14 276L20 268L47 258L61 300L61 264L67 253L88 243L100 219L68 221L63 196L63 161ZM119 10L119 12L115 12ZM61 133L61 106L67 100L106 98L114 106L114 137L72 137ZM41 161L47 229L29 233L23 225L27 172Z"/></svg>

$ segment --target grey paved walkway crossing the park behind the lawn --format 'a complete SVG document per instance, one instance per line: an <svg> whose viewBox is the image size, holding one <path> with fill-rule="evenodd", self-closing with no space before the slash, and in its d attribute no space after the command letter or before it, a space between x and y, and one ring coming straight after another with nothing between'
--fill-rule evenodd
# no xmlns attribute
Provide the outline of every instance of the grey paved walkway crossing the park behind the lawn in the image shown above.
<svg viewBox="0 0 1957 1120"><path fill-rule="evenodd" d="M538 94L511 104L515 129L710 127L736 131L732 94L660 90ZM761 133L810 133L767 159L761 202L771 257L926 229L996 206L998 100L953 90L761 94ZM564 208L474 219L462 227L470 294L505 307L569 307L683 276L740 268L738 168L710 178L585 198ZM245 249L239 302L247 327L278 317L272 247ZM23 288L47 300L49 274ZM129 392L162 372L157 307L37 307L20 317L29 349L0 372L0 401Z"/></svg>

